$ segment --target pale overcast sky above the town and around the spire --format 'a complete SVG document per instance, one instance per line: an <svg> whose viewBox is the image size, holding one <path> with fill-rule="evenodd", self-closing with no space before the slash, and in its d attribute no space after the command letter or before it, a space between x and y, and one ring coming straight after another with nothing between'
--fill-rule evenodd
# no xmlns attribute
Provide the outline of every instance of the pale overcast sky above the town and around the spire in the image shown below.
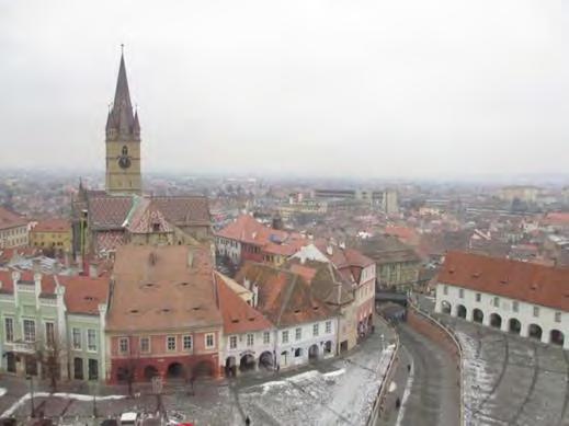
<svg viewBox="0 0 569 426"><path fill-rule="evenodd" d="M121 43L144 171L569 171L561 0L0 0L1 168L103 170Z"/></svg>

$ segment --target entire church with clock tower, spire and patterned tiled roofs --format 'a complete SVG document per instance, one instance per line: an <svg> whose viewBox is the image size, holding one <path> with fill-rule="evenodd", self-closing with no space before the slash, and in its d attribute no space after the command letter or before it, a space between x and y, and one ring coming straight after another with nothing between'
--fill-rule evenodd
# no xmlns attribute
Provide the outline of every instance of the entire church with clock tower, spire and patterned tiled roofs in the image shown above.
<svg viewBox="0 0 569 426"><path fill-rule="evenodd" d="M77 257L113 256L118 246L128 243L186 245L209 238L207 197L144 195L140 123L130 102L124 55L105 136L105 191L80 184L72 202Z"/></svg>

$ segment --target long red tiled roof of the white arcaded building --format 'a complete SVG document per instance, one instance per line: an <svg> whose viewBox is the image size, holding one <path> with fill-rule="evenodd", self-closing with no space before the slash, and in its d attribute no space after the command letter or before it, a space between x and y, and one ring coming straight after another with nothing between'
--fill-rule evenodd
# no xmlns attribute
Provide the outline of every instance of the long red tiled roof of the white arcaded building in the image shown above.
<svg viewBox="0 0 569 426"><path fill-rule="evenodd" d="M439 283L569 311L569 269L449 252Z"/></svg>

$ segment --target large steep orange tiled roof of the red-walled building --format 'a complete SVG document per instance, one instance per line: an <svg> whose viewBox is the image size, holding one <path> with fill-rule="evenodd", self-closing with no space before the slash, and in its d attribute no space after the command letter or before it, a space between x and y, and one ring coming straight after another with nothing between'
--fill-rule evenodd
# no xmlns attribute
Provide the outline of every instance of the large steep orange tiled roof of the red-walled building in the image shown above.
<svg viewBox="0 0 569 426"><path fill-rule="evenodd" d="M220 325L207 244L123 245L114 265L109 330L167 331Z"/></svg>

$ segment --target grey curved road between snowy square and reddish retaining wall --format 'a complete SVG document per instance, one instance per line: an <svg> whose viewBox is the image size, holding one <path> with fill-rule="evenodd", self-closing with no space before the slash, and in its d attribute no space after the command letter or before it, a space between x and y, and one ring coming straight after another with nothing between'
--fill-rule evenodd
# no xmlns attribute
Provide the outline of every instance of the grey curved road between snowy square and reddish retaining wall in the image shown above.
<svg viewBox="0 0 569 426"><path fill-rule="evenodd" d="M402 354L396 372L397 390L386 400L387 418L378 425L456 426L459 418L459 375L452 357L437 343L407 324L397 326ZM407 359L412 362L407 378ZM409 385L405 392L403 389ZM395 398L402 400L400 413L394 408Z"/></svg>

